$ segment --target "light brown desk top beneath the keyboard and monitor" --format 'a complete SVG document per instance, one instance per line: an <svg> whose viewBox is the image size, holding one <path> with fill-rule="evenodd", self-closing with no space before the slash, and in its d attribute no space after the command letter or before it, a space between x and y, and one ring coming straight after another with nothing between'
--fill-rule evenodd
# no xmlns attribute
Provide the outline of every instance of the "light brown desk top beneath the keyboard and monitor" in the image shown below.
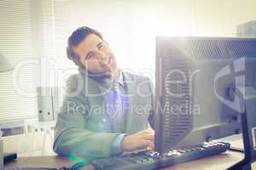
<svg viewBox="0 0 256 170"><path fill-rule="evenodd" d="M180 163L172 167L166 167L165 170L188 170L188 169L226 169L243 158L243 154L235 151L227 151L218 156L211 156L200 160ZM67 157L61 156L32 156L20 157L15 161L10 161L4 167L70 167L75 161L69 161ZM256 169L256 162L253 163L253 169ZM93 169L92 167L84 170Z"/></svg>

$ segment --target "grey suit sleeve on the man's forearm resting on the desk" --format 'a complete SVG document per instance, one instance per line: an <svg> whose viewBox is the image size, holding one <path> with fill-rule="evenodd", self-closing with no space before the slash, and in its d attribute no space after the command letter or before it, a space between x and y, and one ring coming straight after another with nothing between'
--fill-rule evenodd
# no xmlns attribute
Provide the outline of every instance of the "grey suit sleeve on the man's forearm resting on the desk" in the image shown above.
<svg viewBox="0 0 256 170"><path fill-rule="evenodd" d="M86 129L70 128L55 137L54 150L61 156L111 156L113 141L119 133L93 133Z"/></svg>

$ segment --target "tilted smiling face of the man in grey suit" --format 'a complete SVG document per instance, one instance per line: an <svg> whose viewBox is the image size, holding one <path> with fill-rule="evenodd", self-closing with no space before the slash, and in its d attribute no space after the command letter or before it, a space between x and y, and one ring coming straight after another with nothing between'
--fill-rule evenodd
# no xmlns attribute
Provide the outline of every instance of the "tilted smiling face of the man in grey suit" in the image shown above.
<svg viewBox="0 0 256 170"><path fill-rule="evenodd" d="M114 55L108 44L95 34L90 34L73 51L81 63L92 73L111 73L116 69Z"/></svg>

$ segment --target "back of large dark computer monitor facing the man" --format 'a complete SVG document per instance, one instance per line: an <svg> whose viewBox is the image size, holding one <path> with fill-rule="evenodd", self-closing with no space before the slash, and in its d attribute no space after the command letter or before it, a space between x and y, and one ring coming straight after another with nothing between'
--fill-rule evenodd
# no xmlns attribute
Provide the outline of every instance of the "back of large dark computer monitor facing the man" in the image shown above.
<svg viewBox="0 0 256 170"><path fill-rule="evenodd" d="M155 72L155 150L241 133L237 90L256 86L256 38L156 37Z"/></svg>

